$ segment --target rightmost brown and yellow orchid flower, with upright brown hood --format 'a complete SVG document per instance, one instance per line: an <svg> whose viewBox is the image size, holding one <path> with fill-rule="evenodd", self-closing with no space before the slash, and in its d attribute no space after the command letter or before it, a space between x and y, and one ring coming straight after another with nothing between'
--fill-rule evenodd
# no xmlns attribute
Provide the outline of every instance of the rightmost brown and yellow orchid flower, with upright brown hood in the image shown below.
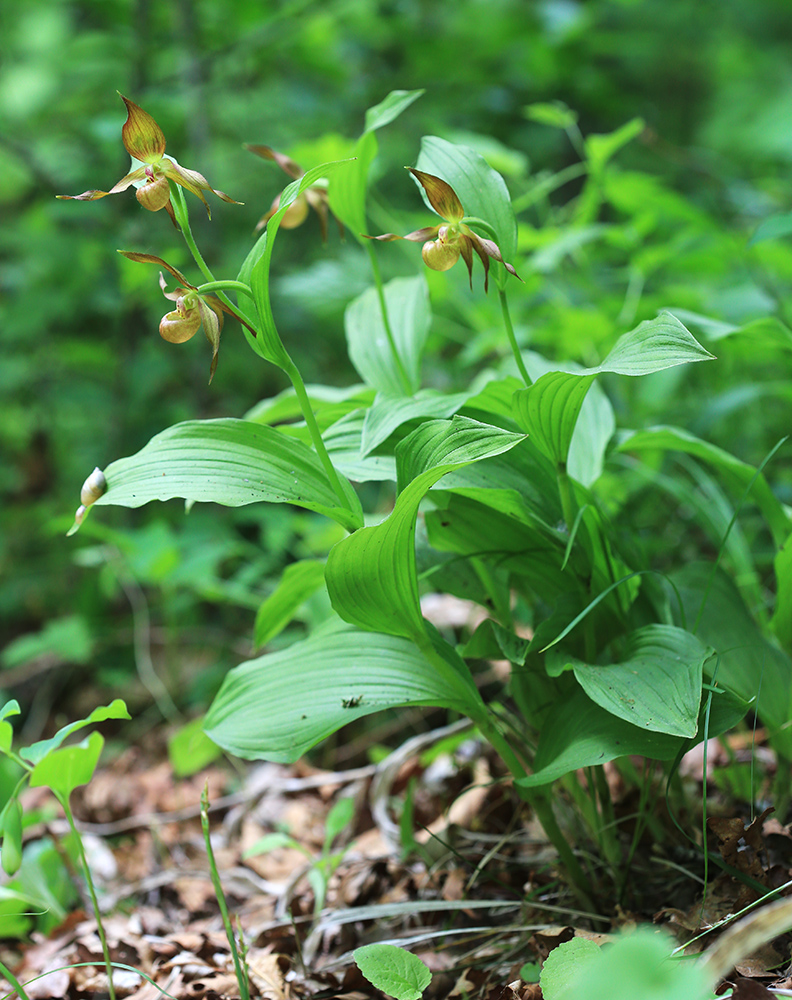
<svg viewBox="0 0 792 1000"><path fill-rule="evenodd" d="M427 267L433 271L447 271L461 257L467 265L470 275L470 287L473 287L473 251L478 254L481 263L484 265L484 291L487 291L489 281L489 262L497 260L503 264L509 274L522 280L511 264L507 264L501 255L497 243L484 239L474 233L462 220L465 218L465 210L456 192L439 177L434 174L424 173L422 170L415 170L413 167L407 168L415 179L421 184L429 204L437 214L445 220L444 224L438 226L427 226L425 229L416 229L406 236L397 236L396 233L384 233L382 236L367 236L369 240L412 240L414 243L423 243L421 256Z"/></svg>

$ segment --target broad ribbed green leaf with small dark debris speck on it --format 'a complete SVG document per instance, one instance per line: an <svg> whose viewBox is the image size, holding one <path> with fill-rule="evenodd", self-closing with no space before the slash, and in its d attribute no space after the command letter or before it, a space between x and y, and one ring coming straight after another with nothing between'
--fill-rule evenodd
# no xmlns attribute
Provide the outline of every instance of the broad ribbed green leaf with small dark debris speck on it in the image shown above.
<svg viewBox="0 0 792 1000"><path fill-rule="evenodd" d="M291 763L364 715L406 705L466 713L469 699L412 642L337 626L231 670L205 730L238 757Z"/></svg>

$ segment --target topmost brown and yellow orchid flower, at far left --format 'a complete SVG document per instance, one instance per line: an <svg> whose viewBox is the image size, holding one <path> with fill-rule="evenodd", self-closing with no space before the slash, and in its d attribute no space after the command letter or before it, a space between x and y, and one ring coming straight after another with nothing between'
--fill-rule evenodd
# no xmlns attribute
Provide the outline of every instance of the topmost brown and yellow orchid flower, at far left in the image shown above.
<svg viewBox="0 0 792 1000"><path fill-rule="evenodd" d="M196 197L200 198L206 206L206 211L210 219L212 211L209 208L206 198L204 198L204 191L211 191L218 198L222 198L223 201L227 201L232 205L241 204L241 202L229 198L222 191L215 190L203 174L199 174L197 170L187 170L186 167L180 166L172 156L166 155L165 136L159 125L143 108L139 108L137 104L128 100L123 94L119 96L127 108L127 120L121 129L124 148L133 160L140 161L142 166L136 167L126 177L122 177L109 191L83 191L82 194L59 194L57 195L58 198L74 201L96 201L98 198L104 198L108 194L119 194L121 191L126 191L128 187L134 184L137 188L135 197L143 208L147 208L150 212L159 212L161 208L164 208L170 215L174 225L176 224L176 220L170 203L169 180L186 188Z"/></svg>

